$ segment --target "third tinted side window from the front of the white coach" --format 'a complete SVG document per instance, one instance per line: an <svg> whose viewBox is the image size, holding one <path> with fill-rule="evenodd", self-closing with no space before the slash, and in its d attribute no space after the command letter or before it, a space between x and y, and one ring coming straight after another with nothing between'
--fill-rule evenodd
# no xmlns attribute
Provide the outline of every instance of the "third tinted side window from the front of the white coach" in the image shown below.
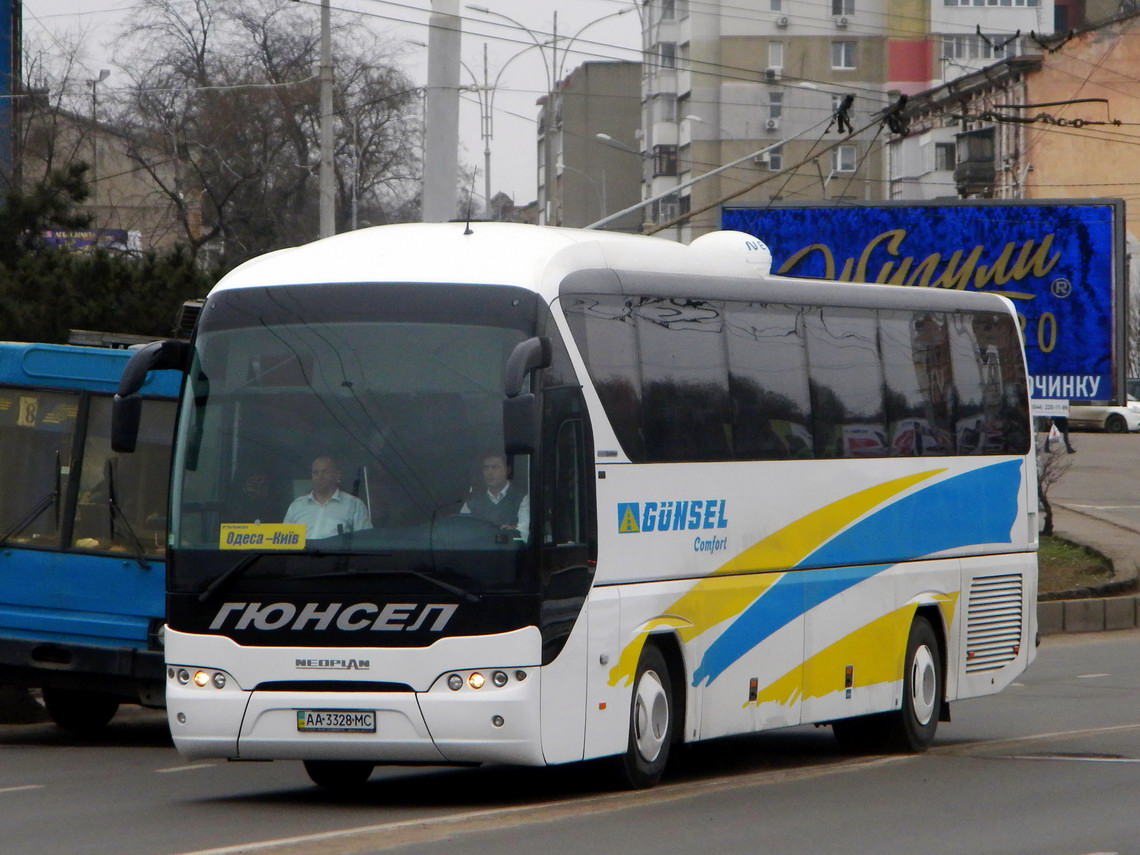
<svg viewBox="0 0 1140 855"><path fill-rule="evenodd" d="M728 307L728 388L738 459L814 456L803 315L796 306Z"/></svg>

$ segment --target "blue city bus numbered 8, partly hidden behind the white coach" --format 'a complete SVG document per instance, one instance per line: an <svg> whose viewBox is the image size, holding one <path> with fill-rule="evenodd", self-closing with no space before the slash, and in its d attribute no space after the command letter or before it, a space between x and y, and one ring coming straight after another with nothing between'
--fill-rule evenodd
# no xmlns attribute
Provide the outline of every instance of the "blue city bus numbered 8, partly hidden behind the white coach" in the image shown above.
<svg viewBox="0 0 1140 855"><path fill-rule="evenodd" d="M0 685L98 731L162 706L166 494L180 375L152 374L138 453L111 448L127 350L0 343Z"/></svg>

